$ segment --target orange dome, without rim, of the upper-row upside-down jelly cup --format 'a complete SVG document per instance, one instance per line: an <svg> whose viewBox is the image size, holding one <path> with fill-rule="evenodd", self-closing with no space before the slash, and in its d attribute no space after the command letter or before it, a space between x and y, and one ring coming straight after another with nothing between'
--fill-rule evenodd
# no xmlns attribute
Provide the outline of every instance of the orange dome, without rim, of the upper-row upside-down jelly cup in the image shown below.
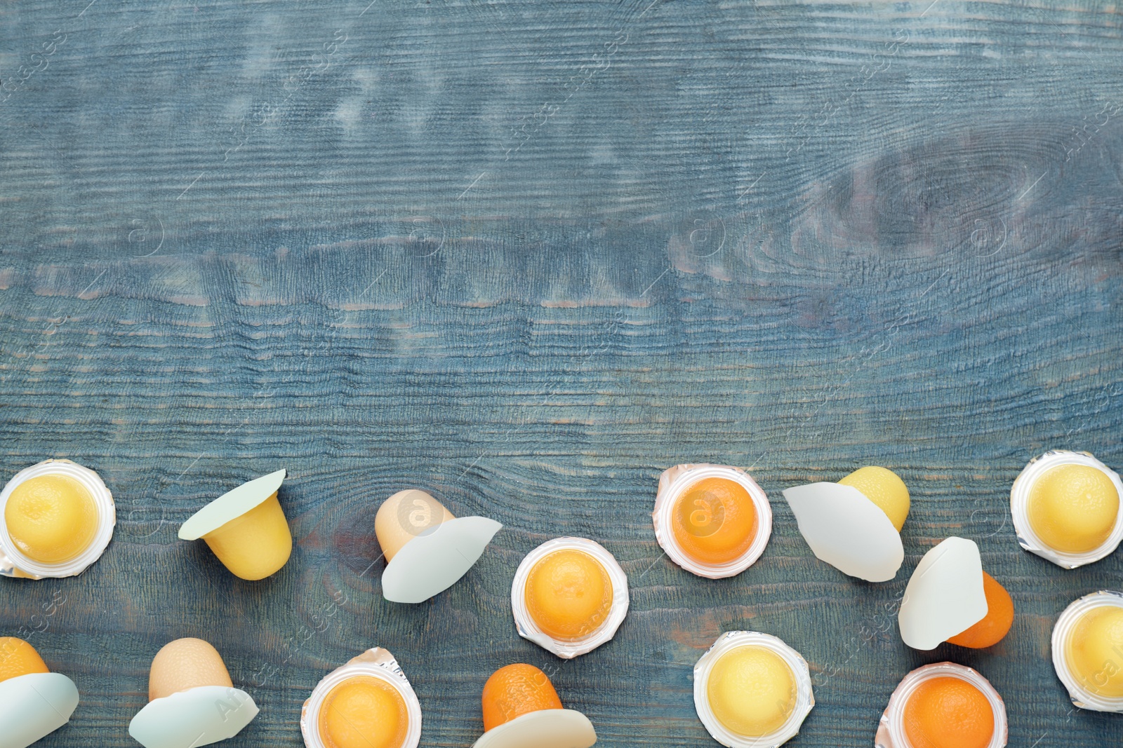
<svg viewBox="0 0 1123 748"><path fill-rule="evenodd" d="M757 508L745 487L728 478L705 478L675 499L672 532L683 553L704 564L745 555L757 537Z"/></svg>

